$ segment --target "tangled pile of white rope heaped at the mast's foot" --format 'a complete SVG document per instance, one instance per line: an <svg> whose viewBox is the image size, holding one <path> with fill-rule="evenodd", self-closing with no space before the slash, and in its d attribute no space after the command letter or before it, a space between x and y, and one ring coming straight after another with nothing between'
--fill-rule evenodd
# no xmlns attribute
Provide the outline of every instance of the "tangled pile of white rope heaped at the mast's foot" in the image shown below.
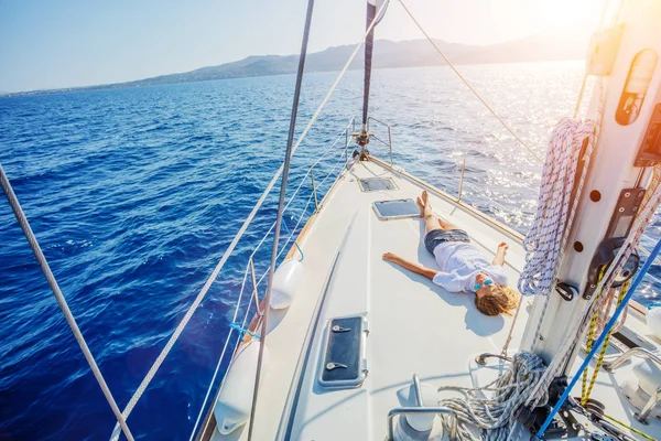
<svg viewBox="0 0 661 441"><path fill-rule="evenodd" d="M517 410L528 400L531 394L530 387L542 377L544 369L544 363L538 355L520 352L514 354L511 364L502 375L481 388L441 387L438 391L464 392L464 398L445 398L438 401L440 406L451 408L456 413L456 417L442 416L445 432L451 433L456 422L457 438L460 441L476 440L466 424L479 429L483 440L510 439L516 429ZM479 397L479 392L483 392L486 398Z"/></svg>

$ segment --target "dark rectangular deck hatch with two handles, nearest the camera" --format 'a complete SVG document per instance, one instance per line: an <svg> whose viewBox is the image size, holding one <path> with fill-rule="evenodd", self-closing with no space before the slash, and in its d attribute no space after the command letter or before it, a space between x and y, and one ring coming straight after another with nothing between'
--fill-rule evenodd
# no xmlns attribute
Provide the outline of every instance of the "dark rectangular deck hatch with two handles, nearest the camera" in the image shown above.
<svg viewBox="0 0 661 441"><path fill-rule="evenodd" d="M367 376L367 319L362 315L328 321L319 366L321 386L354 388L362 384Z"/></svg>

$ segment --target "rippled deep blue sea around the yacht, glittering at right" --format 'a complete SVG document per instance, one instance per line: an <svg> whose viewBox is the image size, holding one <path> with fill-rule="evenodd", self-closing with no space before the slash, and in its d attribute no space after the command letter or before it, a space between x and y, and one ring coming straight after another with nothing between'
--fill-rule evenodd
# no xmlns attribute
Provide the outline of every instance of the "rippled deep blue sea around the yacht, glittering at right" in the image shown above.
<svg viewBox="0 0 661 441"><path fill-rule="evenodd" d="M543 155L554 123L573 112L583 64L460 71ZM306 75L299 133L335 76ZM541 168L448 68L380 69L372 82L370 114L392 126L397 165L456 193L465 160L463 200L527 232ZM285 75L0 98L0 163L121 408L281 164L293 85ZM346 75L293 159L288 194L303 184L285 213L290 230L314 206L310 165L325 154L314 170L319 197L340 170L361 86L360 72ZM384 126L371 130L388 139ZM371 152L388 157L379 140ZM278 187L131 413L138 439L188 440ZM648 249L660 228L648 230ZM256 254L258 276L271 240ZM660 287L648 278L637 299ZM0 440L109 438L113 415L3 198L0 354Z"/></svg>

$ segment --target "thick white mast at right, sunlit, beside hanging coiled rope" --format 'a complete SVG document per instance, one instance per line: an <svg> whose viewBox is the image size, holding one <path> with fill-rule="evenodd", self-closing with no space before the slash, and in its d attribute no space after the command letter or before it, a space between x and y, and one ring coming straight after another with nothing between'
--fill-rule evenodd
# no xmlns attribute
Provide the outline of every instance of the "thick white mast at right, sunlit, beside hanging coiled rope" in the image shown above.
<svg viewBox="0 0 661 441"><path fill-rule="evenodd" d="M661 3L629 0L617 23L596 33L590 42L586 72L602 78L595 82L587 119L600 121L600 135L557 273L557 281L575 292L573 299L565 300L567 295L553 290L543 318L545 298L535 298L520 345L521 349L533 348L546 364L571 337L566 334L572 324L585 319L599 271L629 233L641 208L641 193L650 184L652 165L661 163L658 23ZM628 276L625 272L620 276ZM630 272L632 276L635 269ZM541 337L533 342L538 325ZM574 347L564 374L571 370L576 353Z"/></svg>

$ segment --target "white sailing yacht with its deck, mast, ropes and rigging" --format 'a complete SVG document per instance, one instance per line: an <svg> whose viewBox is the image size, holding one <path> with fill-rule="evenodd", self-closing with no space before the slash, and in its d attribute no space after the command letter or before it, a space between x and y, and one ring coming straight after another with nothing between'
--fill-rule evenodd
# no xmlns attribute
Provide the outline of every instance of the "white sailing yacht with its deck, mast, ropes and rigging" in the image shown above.
<svg viewBox="0 0 661 441"><path fill-rule="evenodd" d="M248 300L237 302L191 440L661 439L661 335L652 331L661 327L660 318L630 300L661 249L660 243L644 263L636 251L661 201L661 3L628 0L593 36L587 115L554 129L525 237L463 202L460 186L451 195L394 164L390 139L383 141L389 158L370 153L370 123L383 123L369 115L373 30L387 2L368 0L362 42L294 142L313 6L311 0L285 161L123 410L31 240L118 419L111 438L133 439L131 410L280 180L266 293L251 258L241 288ZM345 141L342 172L330 176L321 200L314 165L304 176L312 178L315 212L282 250L289 161L362 44L364 111L338 138ZM579 101L588 95L586 78ZM434 214L465 229L483 255L509 244L503 269L522 293L516 313L484 315L473 294L448 292L383 260L384 252L395 252L434 268L415 203L422 192ZM277 267L279 252L285 256ZM226 354L231 363L220 379Z"/></svg>

